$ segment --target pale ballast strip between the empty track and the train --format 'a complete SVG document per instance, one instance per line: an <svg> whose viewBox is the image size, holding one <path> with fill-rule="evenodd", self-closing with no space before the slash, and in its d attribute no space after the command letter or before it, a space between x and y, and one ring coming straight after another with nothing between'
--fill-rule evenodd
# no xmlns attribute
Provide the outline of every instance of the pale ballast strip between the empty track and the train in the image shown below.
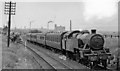
<svg viewBox="0 0 120 71"><path fill-rule="evenodd" d="M32 44L29 43L29 44L33 45L34 43L32 43ZM34 47L34 46L36 46L36 47ZM78 70L79 69L86 69L86 70L90 69L89 67L87 67L85 65L82 65L80 63L75 62L74 60L70 60L70 59L62 60L62 59L60 59L59 56L61 56L61 55L59 53L57 53L57 54L54 52L51 53L51 50L46 50L43 45L34 44L33 47L40 52L47 52L46 54L49 55L49 57L51 57L51 58L61 62L62 64L68 66L69 69L78 69Z"/></svg>

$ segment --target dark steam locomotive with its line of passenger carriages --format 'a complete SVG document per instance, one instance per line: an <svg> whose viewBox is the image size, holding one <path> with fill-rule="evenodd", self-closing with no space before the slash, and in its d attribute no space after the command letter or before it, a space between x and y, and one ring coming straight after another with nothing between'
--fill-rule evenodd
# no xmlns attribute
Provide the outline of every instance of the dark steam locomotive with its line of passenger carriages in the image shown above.
<svg viewBox="0 0 120 71"><path fill-rule="evenodd" d="M91 68L97 65L106 68L112 57L109 49L104 48L104 37L95 29L91 33L88 30L29 33L26 37L28 41L45 45Z"/></svg>

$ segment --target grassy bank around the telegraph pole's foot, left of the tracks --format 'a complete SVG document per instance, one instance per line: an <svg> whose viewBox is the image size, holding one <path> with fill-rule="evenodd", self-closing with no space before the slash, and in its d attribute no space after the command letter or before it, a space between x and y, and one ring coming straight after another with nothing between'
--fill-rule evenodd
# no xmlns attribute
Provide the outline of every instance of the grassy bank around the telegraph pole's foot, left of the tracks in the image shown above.
<svg viewBox="0 0 120 71"><path fill-rule="evenodd" d="M30 51L25 51L22 44L10 43L6 45L5 37L2 38L2 68L3 69L40 69L33 59ZM26 59L26 61L24 61ZM27 65L26 65L27 64Z"/></svg>

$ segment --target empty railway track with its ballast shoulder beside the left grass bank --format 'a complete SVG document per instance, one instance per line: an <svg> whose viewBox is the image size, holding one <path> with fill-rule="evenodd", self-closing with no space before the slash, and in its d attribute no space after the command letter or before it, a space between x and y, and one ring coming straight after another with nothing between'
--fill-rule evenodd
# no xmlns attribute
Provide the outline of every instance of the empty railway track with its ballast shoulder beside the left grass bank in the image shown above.
<svg viewBox="0 0 120 71"><path fill-rule="evenodd" d="M23 44L23 45L26 46L25 44ZM35 56L37 56L38 63L40 63L39 59L40 60L42 59L42 63L40 65L42 65L43 69L54 69L54 70L72 69L68 65L58 61L57 59L51 57L50 55L46 54L45 52L38 51L37 49L34 49L30 46L26 46L26 48L29 49L31 52L33 52Z"/></svg>

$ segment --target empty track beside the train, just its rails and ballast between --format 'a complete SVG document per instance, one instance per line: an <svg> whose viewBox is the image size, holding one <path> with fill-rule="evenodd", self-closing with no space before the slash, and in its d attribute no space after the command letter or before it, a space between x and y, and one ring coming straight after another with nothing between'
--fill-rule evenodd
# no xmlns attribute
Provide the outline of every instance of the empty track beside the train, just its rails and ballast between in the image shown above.
<svg viewBox="0 0 120 71"><path fill-rule="evenodd" d="M26 46L25 44L23 44L23 45ZM57 59L51 57L50 55L48 55L45 52L38 51L37 49L29 47L29 46L26 46L26 47L27 47L27 49L32 51L37 57L42 58L51 67L51 69L54 69L54 70L57 70L57 69L72 69L68 65L62 63L61 61L58 61Z"/></svg>

